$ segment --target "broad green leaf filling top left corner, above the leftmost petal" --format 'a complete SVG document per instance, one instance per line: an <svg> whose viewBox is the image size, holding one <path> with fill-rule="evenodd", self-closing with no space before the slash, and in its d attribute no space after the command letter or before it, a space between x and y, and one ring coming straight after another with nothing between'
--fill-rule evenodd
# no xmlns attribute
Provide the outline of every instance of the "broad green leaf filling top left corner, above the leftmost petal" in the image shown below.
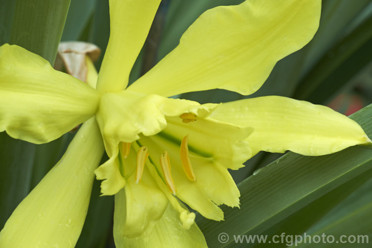
<svg viewBox="0 0 372 248"><path fill-rule="evenodd" d="M0 44L16 44L53 65L69 3L69 0L0 0Z"/></svg>

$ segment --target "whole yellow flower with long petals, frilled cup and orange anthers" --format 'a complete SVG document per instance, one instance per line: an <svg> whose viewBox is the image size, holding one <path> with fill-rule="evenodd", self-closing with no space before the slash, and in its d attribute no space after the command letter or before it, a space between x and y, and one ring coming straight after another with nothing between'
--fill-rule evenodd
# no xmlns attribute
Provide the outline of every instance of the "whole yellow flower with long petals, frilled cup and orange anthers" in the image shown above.
<svg viewBox="0 0 372 248"><path fill-rule="evenodd" d="M261 150L317 156L370 142L347 117L289 98L220 105L168 98L213 88L253 93L278 60L311 40L320 0L247 0L208 10L175 50L126 87L159 2L110 0L110 40L89 85L25 49L0 48L0 131L45 143L85 122L13 212L0 247L73 247L93 172L104 180L102 193L115 194L118 248L205 247L182 202L222 220L218 205L239 206L228 169ZM96 169L104 147L110 159Z"/></svg>

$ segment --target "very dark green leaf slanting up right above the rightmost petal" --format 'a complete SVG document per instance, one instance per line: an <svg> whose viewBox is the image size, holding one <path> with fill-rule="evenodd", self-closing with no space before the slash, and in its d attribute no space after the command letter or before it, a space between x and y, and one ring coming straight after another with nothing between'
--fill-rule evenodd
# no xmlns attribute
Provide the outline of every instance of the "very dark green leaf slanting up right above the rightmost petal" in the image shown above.
<svg viewBox="0 0 372 248"><path fill-rule="evenodd" d="M294 97L323 103L372 58L372 16L329 50L301 81Z"/></svg>

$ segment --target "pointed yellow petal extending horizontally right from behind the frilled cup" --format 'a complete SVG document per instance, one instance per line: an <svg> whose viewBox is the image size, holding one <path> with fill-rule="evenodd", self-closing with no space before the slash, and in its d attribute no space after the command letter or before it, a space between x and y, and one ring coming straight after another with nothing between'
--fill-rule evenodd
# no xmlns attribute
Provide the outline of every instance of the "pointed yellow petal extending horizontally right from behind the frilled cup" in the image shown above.
<svg viewBox="0 0 372 248"><path fill-rule="evenodd" d="M252 126L247 138L252 155L291 150L310 156L371 142L362 127L332 109L279 96L221 104L211 118Z"/></svg>

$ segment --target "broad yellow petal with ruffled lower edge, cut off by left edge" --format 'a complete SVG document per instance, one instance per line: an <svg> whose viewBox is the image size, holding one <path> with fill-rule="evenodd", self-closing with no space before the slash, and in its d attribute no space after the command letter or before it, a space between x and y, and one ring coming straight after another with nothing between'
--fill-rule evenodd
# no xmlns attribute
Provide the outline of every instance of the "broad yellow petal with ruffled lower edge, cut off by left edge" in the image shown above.
<svg viewBox="0 0 372 248"><path fill-rule="evenodd" d="M45 143L93 116L98 91L18 46L0 47L0 131Z"/></svg>

